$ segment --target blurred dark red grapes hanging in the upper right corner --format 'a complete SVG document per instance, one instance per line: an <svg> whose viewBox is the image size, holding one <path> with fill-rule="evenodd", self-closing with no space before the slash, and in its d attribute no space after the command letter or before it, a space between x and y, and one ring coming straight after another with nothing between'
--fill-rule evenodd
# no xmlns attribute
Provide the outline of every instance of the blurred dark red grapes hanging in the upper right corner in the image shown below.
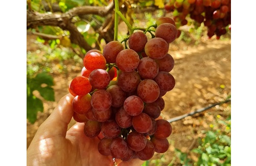
<svg viewBox="0 0 256 166"><path fill-rule="evenodd" d="M207 27L207 36L212 38L231 30L231 0L169 0L165 5L168 12L173 12L173 19L180 26L188 24L189 16L197 23L204 23Z"/></svg>

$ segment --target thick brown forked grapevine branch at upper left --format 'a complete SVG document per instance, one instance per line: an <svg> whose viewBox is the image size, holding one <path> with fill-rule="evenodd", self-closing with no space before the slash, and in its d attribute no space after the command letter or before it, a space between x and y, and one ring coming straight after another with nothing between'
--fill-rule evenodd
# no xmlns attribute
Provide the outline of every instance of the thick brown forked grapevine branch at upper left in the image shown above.
<svg viewBox="0 0 256 166"><path fill-rule="evenodd" d="M39 13L27 10L27 29L35 28L37 26L54 26L67 30L70 33L72 43L78 44L84 50L91 50L91 46L85 41L83 35L78 31L72 18L75 16L82 16L86 14L96 14L99 16L106 16L112 12L114 7L110 3L106 7L98 6L82 6L73 8L65 13Z"/></svg>

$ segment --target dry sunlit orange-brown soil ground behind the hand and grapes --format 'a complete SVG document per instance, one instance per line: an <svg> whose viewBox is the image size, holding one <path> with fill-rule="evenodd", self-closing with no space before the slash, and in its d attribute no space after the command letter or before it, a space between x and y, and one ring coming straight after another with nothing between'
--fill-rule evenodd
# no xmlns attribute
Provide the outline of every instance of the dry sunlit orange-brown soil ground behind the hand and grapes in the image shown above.
<svg viewBox="0 0 256 166"><path fill-rule="evenodd" d="M33 38L27 38L28 48L33 44ZM170 45L169 53L175 59L175 66L170 72L176 85L163 98L165 109L162 116L168 120L206 107L210 104L223 101L231 94L231 40L202 40L199 44L180 42ZM40 124L51 114L57 102L68 93L69 82L80 74L81 66L73 66L69 62L68 75L54 75L55 102L44 101L44 111L38 113L34 124L27 122L27 148ZM222 85L222 88L221 88ZM173 132L169 137L170 148L164 155L162 165L168 163L175 156L174 149L188 152L198 146L197 138L202 130L207 130L209 125L216 120L219 114L225 119L231 113L230 102L202 113L188 116L182 120L172 122ZM72 120L72 126L75 123ZM155 154L153 159L160 158ZM195 157L195 156L191 156ZM151 165L154 165L151 163ZM175 160L174 165L179 164Z"/></svg>

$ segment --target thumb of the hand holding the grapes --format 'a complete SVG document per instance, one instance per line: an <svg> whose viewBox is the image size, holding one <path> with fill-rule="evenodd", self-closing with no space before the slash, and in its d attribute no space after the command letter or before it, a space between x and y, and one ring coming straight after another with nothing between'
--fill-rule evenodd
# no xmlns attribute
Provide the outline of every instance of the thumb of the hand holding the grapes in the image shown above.
<svg viewBox="0 0 256 166"><path fill-rule="evenodd" d="M74 114L72 109L73 99L74 96L71 93L68 93L62 97L51 115L46 118L46 120L38 128L38 134L42 135L44 133L44 136L46 136L45 130L47 130L48 132L46 133L62 135L65 137L67 126L69 122L71 122Z"/></svg>

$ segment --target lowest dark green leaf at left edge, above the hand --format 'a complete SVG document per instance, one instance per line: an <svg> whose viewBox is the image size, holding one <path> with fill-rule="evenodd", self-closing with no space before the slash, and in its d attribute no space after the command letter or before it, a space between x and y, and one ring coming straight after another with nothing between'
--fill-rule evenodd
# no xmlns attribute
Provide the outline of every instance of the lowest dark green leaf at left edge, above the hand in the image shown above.
<svg viewBox="0 0 256 166"><path fill-rule="evenodd" d="M27 119L30 123L35 123L38 111L43 111L42 101L34 96L27 97Z"/></svg>

